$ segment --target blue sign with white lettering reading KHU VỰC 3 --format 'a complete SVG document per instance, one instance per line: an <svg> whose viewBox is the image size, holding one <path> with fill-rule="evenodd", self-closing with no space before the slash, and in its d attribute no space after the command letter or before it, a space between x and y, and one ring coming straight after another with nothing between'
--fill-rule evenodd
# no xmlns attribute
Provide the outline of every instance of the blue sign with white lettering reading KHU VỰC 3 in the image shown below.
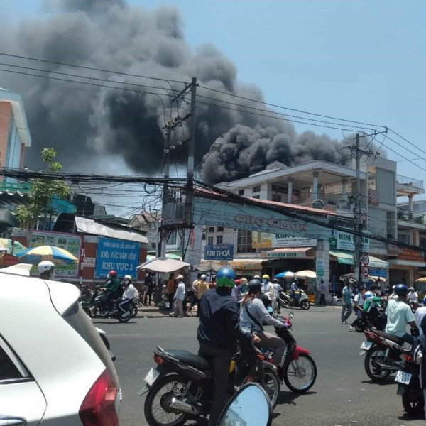
<svg viewBox="0 0 426 426"><path fill-rule="evenodd" d="M124 275L136 278L139 264L139 243L114 238L100 238L97 244L96 278L107 278L107 273L114 270L121 280Z"/></svg>

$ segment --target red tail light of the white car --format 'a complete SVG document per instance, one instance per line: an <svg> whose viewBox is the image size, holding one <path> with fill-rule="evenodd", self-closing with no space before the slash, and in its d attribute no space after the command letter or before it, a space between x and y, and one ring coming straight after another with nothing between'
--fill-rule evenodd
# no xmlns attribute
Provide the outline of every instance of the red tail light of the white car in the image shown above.
<svg viewBox="0 0 426 426"><path fill-rule="evenodd" d="M117 388L109 371L105 370L87 393L80 407L80 420L84 426L119 426L116 412Z"/></svg>

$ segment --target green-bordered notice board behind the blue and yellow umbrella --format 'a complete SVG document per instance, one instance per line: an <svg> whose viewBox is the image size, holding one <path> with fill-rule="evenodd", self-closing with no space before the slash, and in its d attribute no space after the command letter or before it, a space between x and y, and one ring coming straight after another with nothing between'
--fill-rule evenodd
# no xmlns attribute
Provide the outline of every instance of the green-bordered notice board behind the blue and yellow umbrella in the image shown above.
<svg viewBox="0 0 426 426"><path fill-rule="evenodd" d="M82 237L76 234L66 234L64 232L50 231L31 231L28 238L28 248L38 246L56 246L65 249L80 259L80 251L82 246ZM38 275L37 268L34 274ZM78 263L65 263L55 265L55 276L59 278L77 278L79 273Z"/></svg>

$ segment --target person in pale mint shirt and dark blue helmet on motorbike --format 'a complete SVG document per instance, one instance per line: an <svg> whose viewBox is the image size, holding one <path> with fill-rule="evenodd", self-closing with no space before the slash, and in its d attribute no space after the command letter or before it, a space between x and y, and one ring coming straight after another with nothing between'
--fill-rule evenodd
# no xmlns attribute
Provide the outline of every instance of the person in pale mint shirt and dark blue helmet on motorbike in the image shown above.
<svg viewBox="0 0 426 426"><path fill-rule="evenodd" d="M408 287L405 284L397 284L393 291L398 296L398 300L391 299L388 301L385 312L388 322L386 323L385 332L398 337L404 342L413 344L414 337L406 332L407 324L417 329L413 312L411 312L410 306L405 303Z"/></svg>

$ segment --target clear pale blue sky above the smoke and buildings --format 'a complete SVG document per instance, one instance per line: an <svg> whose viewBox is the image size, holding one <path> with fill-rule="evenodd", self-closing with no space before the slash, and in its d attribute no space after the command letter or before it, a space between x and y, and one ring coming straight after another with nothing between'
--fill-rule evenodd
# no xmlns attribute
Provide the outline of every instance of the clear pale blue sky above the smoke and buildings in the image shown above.
<svg viewBox="0 0 426 426"><path fill-rule="evenodd" d="M261 89L270 104L393 129L406 141L388 133L400 145L378 136L376 146L398 161L398 174L426 180L425 1L123 1L148 11L175 6L190 48L214 45L234 64L236 80ZM0 6L1 19L12 24L52 13L40 0ZM294 125L297 132L349 136Z"/></svg>

